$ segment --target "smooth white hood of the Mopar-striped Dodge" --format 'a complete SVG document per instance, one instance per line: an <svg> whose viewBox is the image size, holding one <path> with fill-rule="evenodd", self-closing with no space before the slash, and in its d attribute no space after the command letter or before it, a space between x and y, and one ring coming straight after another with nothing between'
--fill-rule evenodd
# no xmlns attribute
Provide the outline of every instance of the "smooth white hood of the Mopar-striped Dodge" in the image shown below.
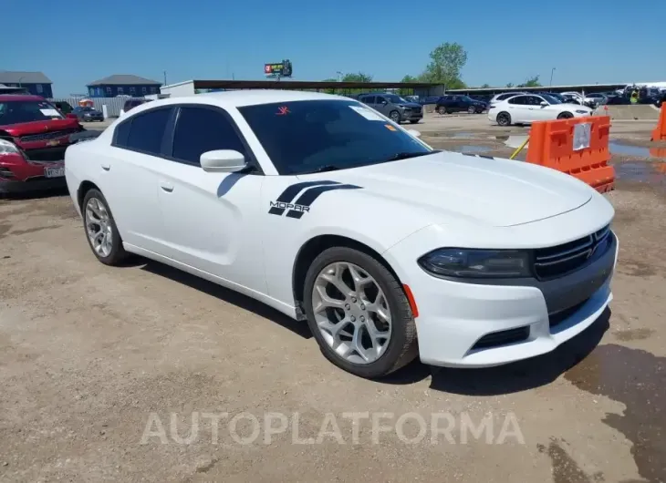
<svg viewBox="0 0 666 483"><path fill-rule="evenodd" d="M375 199L354 200L357 208L383 199L386 211L398 202L408 205L410 216L425 217L426 223L463 221L496 227L575 210L594 193L588 185L557 170L448 151L299 178L349 183L361 189L345 196ZM373 211L373 216L379 215L377 209ZM390 218L391 212L383 216Z"/></svg>

